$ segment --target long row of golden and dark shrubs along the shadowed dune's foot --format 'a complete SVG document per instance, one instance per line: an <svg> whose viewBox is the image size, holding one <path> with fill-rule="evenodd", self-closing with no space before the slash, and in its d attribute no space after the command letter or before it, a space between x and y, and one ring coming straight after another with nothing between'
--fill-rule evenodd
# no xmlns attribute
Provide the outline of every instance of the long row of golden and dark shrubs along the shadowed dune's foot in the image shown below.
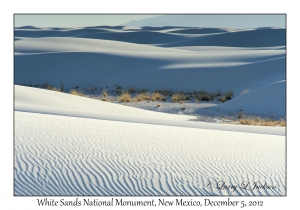
<svg viewBox="0 0 300 210"><path fill-rule="evenodd" d="M36 84L23 84L24 86L30 87L40 87L47 90L53 90L58 92L64 92L65 87L63 83L60 83L58 87L54 87L48 82L45 82L42 85ZM116 84L113 89L108 90L108 87L99 88L95 85L89 85L88 88L79 88L78 85L74 86L69 93L78 96L88 97L89 95L96 96L99 94L98 99L102 101L122 101L122 102L142 102L142 101L169 101L171 100L174 103L184 104L186 101L194 101L200 103L201 101L211 101L215 97L219 97L218 100L224 103L227 100L230 100L233 97L233 92L229 91L223 96L221 92L216 93L206 92L206 91L172 91L167 89L161 89L150 93L148 89L135 89L133 87L122 88L120 85Z"/></svg>

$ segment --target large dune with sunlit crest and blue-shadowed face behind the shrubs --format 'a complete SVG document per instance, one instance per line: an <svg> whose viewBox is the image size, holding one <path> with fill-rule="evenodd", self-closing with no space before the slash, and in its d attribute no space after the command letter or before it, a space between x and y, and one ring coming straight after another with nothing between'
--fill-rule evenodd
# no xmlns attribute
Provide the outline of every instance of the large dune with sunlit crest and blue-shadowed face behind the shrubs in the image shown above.
<svg viewBox="0 0 300 210"><path fill-rule="evenodd" d="M17 84L118 83L136 88L237 89L239 94L243 86L259 87L252 87L258 80L285 79L285 50L193 52L107 40L40 38L16 41L15 52Z"/></svg>

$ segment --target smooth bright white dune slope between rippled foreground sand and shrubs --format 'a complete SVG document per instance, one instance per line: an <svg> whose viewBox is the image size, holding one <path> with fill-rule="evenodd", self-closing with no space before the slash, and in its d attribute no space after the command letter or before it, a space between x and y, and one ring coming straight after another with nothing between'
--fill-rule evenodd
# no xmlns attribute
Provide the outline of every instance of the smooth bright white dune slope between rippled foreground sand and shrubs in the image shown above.
<svg viewBox="0 0 300 210"><path fill-rule="evenodd" d="M210 130L285 136L285 128L194 122L195 116L166 114L55 91L15 85L15 111Z"/></svg>

